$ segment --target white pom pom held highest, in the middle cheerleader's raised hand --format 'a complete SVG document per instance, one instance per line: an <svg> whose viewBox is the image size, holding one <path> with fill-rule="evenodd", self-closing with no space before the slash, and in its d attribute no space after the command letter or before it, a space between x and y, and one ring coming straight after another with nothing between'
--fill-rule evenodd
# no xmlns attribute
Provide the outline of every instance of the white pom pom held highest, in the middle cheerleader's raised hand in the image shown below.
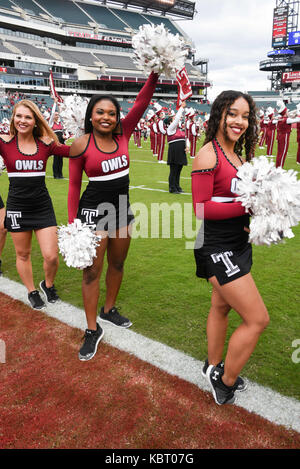
<svg viewBox="0 0 300 469"><path fill-rule="evenodd" d="M135 63L146 75L150 72L175 76L184 67L187 47L179 34L171 34L163 24L144 24L132 38Z"/></svg>

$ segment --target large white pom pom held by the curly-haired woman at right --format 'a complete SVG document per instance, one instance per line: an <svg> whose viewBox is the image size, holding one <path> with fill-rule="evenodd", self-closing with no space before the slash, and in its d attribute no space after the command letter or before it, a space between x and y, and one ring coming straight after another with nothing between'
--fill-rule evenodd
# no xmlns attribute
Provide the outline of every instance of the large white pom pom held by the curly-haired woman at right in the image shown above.
<svg viewBox="0 0 300 469"><path fill-rule="evenodd" d="M249 241L270 245L293 238L300 222L300 181L297 172L276 168L267 157L254 158L237 172L237 201L252 213Z"/></svg>

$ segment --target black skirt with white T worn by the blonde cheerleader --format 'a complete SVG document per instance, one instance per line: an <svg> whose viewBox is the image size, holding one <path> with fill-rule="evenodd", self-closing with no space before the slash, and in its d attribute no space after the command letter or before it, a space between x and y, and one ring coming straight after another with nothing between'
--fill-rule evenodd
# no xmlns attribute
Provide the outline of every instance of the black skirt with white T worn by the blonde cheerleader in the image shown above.
<svg viewBox="0 0 300 469"><path fill-rule="evenodd" d="M23 179L23 178L22 178ZM12 233L57 226L44 177L11 178L6 203L5 228Z"/></svg>

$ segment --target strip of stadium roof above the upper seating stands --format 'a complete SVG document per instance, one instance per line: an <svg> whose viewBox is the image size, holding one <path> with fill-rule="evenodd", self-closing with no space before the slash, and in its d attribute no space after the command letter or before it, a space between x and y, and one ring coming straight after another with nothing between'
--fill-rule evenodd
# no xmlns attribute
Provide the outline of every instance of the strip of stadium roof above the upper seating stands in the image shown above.
<svg viewBox="0 0 300 469"><path fill-rule="evenodd" d="M190 0L94 0L100 5L140 7L145 12L161 12L163 14L176 15L184 18L193 18L195 13L195 2Z"/></svg>

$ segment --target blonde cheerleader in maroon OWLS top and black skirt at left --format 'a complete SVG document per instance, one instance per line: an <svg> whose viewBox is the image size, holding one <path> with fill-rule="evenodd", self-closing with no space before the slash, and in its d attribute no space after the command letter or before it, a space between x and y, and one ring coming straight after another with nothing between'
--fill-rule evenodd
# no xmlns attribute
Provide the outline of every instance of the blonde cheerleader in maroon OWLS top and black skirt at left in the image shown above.
<svg viewBox="0 0 300 469"><path fill-rule="evenodd" d="M59 300L54 287L58 269L57 227L45 174L49 156L67 157L69 151L68 146L58 143L33 102L22 100L15 105L10 134L0 137L0 153L9 177L5 227L15 247L17 271L34 309L43 308L45 303L33 281L30 257L33 231L44 259L45 279L40 288L47 302Z"/></svg>

